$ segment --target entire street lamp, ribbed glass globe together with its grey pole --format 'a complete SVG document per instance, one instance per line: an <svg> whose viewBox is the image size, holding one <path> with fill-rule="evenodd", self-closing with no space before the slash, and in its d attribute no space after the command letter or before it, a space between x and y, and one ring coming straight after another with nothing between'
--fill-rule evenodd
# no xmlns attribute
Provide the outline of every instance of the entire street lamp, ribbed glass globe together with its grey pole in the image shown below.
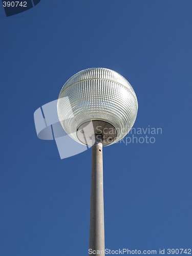
<svg viewBox="0 0 192 256"><path fill-rule="evenodd" d="M89 254L104 255L102 147L129 133L137 111L131 84L109 69L82 70L60 91L57 113L63 129L75 141L92 146Z"/></svg>

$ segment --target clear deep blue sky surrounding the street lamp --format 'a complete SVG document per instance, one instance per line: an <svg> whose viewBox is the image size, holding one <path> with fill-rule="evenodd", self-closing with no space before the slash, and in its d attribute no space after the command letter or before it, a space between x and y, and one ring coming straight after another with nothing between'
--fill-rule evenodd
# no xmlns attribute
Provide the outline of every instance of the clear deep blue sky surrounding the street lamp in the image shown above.
<svg viewBox="0 0 192 256"><path fill-rule="evenodd" d="M105 248L191 248L191 0L43 1L1 19L0 255L88 255L91 149L60 160L33 113L76 72L132 84L155 143L103 149ZM75 251L78 250L78 251Z"/></svg>

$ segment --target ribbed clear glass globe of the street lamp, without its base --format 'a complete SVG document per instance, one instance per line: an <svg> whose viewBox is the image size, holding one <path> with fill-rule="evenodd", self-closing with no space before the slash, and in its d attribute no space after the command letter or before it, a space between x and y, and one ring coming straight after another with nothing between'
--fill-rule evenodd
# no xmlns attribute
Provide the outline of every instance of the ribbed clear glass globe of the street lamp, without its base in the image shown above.
<svg viewBox="0 0 192 256"><path fill-rule="evenodd" d="M63 100L68 99L68 100ZM105 68L91 68L73 75L62 87L57 113L67 134L77 142L80 125L101 120L113 125L121 140L135 122L138 110L136 94L131 84L119 73Z"/></svg>

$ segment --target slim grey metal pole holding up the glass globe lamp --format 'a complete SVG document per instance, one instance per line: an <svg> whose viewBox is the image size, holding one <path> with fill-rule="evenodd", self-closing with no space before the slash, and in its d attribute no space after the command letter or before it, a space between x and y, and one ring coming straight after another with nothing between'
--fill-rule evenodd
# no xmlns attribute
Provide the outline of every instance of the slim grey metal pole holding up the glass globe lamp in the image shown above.
<svg viewBox="0 0 192 256"><path fill-rule="evenodd" d="M103 160L102 137L94 135L92 141L91 207L89 254L104 254L104 205L103 205ZM93 250L96 253L93 254ZM97 253L98 251L98 253Z"/></svg>

